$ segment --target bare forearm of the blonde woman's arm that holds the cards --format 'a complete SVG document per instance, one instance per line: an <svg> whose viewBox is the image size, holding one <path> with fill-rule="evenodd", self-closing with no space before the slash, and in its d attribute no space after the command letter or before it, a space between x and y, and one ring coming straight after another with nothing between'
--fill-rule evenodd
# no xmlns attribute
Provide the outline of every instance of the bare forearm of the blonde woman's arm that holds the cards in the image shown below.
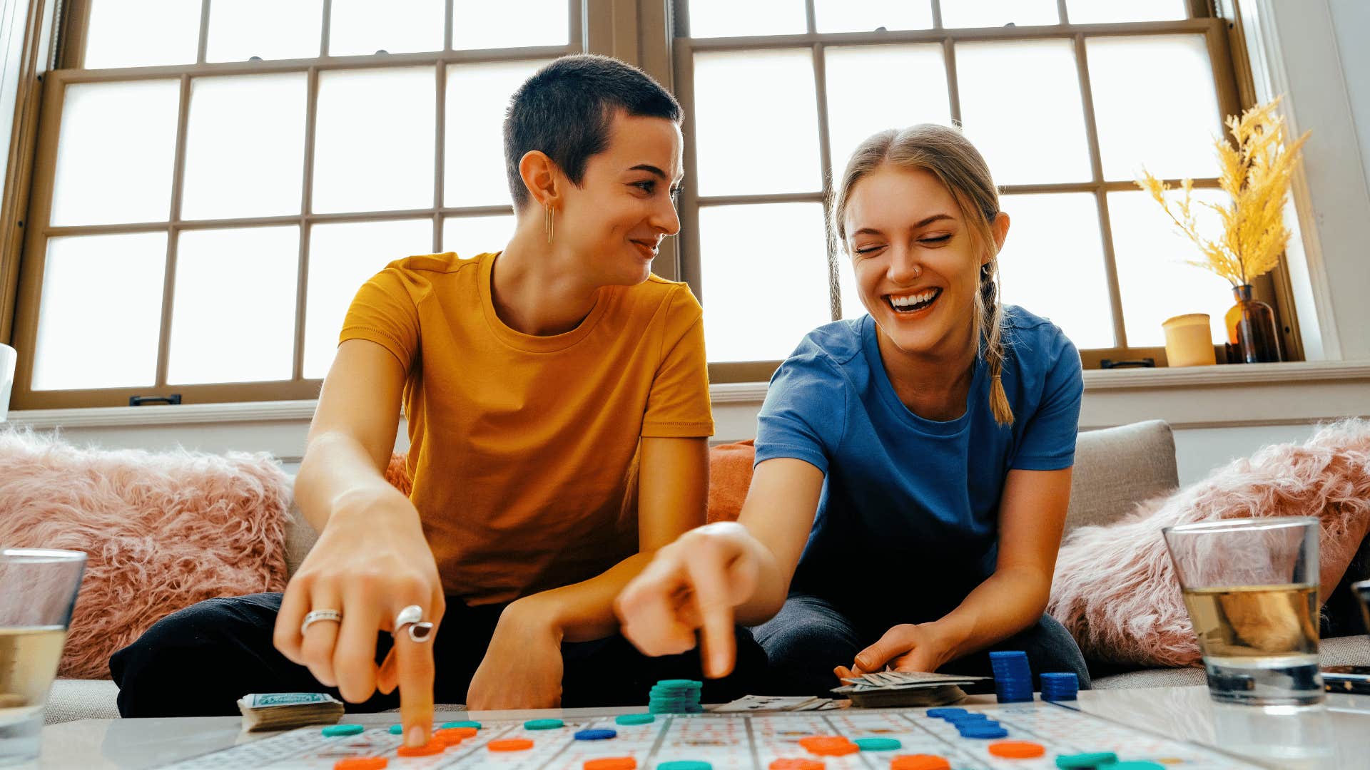
<svg viewBox="0 0 1370 770"><path fill-rule="evenodd" d="M941 663L977 652L1036 623L1047 610L1051 575L1000 569L934 622L948 641Z"/></svg>

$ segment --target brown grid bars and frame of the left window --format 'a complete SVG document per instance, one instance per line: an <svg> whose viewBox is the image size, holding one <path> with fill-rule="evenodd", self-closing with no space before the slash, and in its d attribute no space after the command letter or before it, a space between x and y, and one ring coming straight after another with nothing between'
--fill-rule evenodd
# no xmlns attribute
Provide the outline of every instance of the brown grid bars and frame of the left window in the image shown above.
<svg viewBox="0 0 1370 770"><path fill-rule="evenodd" d="M316 59L275 59L258 62L227 62L208 63L208 33L210 33L210 0L201 0L199 52L197 62L186 66L153 66L153 67L125 67L107 70L64 69L53 70L45 78L47 90L44 93L42 114L49 122L49 130L40 137L37 162L34 164L33 210L30 211L32 229L25 243L25 264L32 266L25 270L21 281L21 303L16 325L16 341L19 343L19 363L14 382L14 406L18 408L63 408L89 406L125 406L133 395L166 395L181 393L185 403L204 401L234 401L234 400L275 400L275 399L312 399L318 395L319 380L304 378L304 337L308 303L308 260L310 234L314 225L337 222L373 222L373 221L400 221L400 219L432 219L433 243L432 249L437 252L443 243L443 223L447 219L463 216L488 216L499 214L512 214L512 204L501 206L443 206L445 184L445 107L447 107L447 69L449 64L480 64L493 62L516 62L527 59L553 59L566 53L578 53L586 49L585 30L582 27L584 0L567 0L569 14L569 42L566 45L540 45L523 48L492 48L492 49L452 49L452 5L453 0L444 3L444 51L421 53L395 53L384 56L329 56L329 32L332 23L333 0L323 0L322 23L319 33L319 56ZM64 53L68 62L79 67L84 58L85 22L89 19L89 4L79 3L71 16L81 25L73 30L67 45L73 45ZM436 69L436 121L434 121L434 177L433 177L433 206L425 208L411 208L399 211L353 211L342 214L315 214L312 211L314 193L314 158L315 158L315 130L318 114L319 73L345 71L366 69L401 69L407 66L430 66ZM306 130L304 130L304 163L301 173L301 200L300 214L273 215L273 216L244 216L230 219L193 219L181 218L181 196L185 179L186 137L190 110L190 82L193 78L278 74L278 73L306 73ZM174 151L174 171L171 178L171 206L166 221L130 222L115 225L68 225L51 226L49 214L53 192L53 175L58 152L58 126L62 123L62 108L67 85L96 84L96 82L133 82L142 79L171 79L179 81L179 105L177 115L177 138ZM292 378L289 381L269 382L225 382L225 384L178 384L167 382L170 363L173 303L175 299L175 273L178 236L186 230L226 229L226 227L262 227L271 225L297 225L300 227L300 248L296 271L296 306L293 329L293 362ZM34 343L37 340L38 304L42 290L42 266L45 262L47 243L49 238L60 236L95 236L115 233L167 233L166 267L163 275L162 321L158 340L156 380L153 385L140 388L97 388L97 389L66 389L66 390L33 390ZM119 319L108 319L110 323L119 323Z"/></svg>

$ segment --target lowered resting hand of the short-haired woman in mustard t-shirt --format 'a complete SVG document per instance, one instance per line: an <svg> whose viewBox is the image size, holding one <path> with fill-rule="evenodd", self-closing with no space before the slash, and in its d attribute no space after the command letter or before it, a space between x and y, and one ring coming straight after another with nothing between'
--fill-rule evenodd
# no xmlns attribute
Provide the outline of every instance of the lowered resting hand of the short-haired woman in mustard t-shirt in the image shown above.
<svg viewBox="0 0 1370 770"><path fill-rule="evenodd" d="M560 632L515 601L504 608L466 693L470 711L562 704ZM460 633L460 632L458 632Z"/></svg>

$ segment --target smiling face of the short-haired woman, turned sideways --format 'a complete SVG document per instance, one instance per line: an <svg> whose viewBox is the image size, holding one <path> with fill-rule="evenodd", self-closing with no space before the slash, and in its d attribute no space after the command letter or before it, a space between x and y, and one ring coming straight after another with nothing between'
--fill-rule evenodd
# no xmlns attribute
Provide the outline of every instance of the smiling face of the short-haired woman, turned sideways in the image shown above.
<svg viewBox="0 0 1370 770"><path fill-rule="evenodd" d="M581 184L562 186L553 238L584 260L593 284L641 284L662 238L680 232L673 190L682 147L673 121L618 110L608 144L586 160Z"/></svg>

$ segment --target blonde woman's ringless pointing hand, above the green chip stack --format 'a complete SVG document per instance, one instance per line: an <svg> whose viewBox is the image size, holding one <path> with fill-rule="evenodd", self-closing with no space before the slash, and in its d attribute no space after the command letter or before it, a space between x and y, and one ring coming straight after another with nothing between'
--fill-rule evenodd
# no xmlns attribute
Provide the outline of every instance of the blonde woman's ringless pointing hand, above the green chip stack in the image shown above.
<svg viewBox="0 0 1370 770"><path fill-rule="evenodd" d="M704 675L727 675L737 658L736 608L756 591L759 547L736 522L686 532L618 595L621 632L645 655L678 655L703 629Z"/></svg>

